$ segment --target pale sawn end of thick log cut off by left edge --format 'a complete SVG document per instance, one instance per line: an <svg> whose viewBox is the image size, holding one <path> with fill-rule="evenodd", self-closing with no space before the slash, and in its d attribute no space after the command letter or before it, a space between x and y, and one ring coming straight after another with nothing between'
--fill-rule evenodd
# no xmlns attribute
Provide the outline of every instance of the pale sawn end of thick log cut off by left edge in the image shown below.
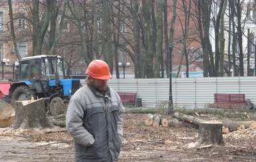
<svg viewBox="0 0 256 162"><path fill-rule="evenodd" d="M13 124L15 108L11 104L0 100L0 128L6 128Z"/></svg>

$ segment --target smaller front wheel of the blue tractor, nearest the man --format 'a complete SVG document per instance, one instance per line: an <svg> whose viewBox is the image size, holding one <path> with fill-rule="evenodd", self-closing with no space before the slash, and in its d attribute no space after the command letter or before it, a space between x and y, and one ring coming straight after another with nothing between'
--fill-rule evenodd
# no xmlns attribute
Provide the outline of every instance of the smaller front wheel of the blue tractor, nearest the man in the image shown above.
<svg viewBox="0 0 256 162"><path fill-rule="evenodd" d="M55 97L49 105L49 110L53 116L58 116L65 112L65 104L61 97Z"/></svg>

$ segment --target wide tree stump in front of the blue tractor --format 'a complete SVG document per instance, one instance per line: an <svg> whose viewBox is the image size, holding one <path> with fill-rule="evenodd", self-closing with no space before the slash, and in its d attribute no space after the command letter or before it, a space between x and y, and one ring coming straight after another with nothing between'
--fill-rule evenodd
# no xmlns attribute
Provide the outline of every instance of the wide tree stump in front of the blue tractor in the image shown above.
<svg viewBox="0 0 256 162"><path fill-rule="evenodd" d="M36 101L16 101L15 112L13 129L51 127L45 112L45 101L43 98Z"/></svg>

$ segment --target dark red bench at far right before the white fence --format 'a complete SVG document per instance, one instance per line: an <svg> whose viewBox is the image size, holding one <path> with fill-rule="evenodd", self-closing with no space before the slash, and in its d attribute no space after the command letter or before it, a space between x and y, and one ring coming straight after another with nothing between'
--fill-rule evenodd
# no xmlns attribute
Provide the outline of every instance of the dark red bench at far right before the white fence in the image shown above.
<svg viewBox="0 0 256 162"><path fill-rule="evenodd" d="M245 105L245 94L214 93L214 102L210 108L239 108Z"/></svg>

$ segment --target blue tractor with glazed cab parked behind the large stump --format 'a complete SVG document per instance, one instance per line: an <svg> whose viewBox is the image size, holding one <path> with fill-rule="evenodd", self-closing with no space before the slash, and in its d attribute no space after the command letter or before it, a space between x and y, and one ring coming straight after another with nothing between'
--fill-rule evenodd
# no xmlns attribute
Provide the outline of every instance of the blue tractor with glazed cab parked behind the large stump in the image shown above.
<svg viewBox="0 0 256 162"><path fill-rule="evenodd" d="M47 110L56 111L79 88L80 79L66 79L61 56L25 57L19 61L19 80L11 84L9 101L43 98Z"/></svg>

